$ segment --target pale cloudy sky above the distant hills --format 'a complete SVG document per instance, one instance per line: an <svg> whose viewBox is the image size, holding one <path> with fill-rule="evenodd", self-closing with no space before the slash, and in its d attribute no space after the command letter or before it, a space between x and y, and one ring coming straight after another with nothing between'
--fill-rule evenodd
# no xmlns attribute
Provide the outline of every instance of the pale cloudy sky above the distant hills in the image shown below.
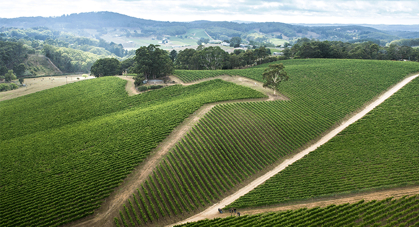
<svg viewBox="0 0 419 227"><path fill-rule="evenodd" d="M0 18L99 11L161 21L419 24L419 0L9 0L0 4Z"/></svg>

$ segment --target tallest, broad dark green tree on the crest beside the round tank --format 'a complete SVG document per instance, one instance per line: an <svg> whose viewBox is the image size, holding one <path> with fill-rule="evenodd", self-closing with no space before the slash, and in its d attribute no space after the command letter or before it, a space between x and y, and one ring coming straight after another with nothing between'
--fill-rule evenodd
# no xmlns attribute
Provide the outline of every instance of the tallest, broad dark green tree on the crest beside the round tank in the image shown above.
<svg viewBox="0 0 419 227"><path fill-rule="evenodd" d="M135 51L135 61L137 62L135 72L143 74L147 80L173 73L172 60L168 53L158 48L158 46L150 44Z"/></svg>

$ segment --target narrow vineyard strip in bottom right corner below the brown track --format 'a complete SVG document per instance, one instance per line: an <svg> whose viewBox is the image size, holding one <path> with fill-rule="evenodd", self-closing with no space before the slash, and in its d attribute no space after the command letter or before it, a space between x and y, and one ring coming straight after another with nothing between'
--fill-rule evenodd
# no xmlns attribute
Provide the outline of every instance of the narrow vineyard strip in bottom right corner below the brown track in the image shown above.
<svg viewBox="0 0 419 227"><path fill-rule="evenodd" d="M280 226L419 226L419 197L361 200L355 204L301 208L257 215L229 216L201 220L176 227L280 227Z"/></svg>

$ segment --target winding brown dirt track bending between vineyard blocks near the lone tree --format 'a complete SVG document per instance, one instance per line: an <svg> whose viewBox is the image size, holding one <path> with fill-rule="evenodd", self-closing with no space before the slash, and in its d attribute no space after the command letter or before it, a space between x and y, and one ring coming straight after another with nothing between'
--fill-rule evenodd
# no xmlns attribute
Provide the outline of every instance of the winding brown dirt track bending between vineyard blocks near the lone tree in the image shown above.
<svg viewBox="0 0 419 227"><path fill-rule="evenodd" d="M126 77L124 75L119 76L119 78L127 80L126 90L129 95L138 94L139 92L135 89L133 79L130 77ZM252 85L255 90L259 90L262 93L268 95L268 98L252 98L252 99L238 99L238 100L227 100L223 102L205 104L200 109L198 109L195 113L185 119L181 124L178 125L170 134L169 136L159 143L155 149L151 151L151 154L139 165L137 166L132 172L124 179L123 183L110 194L108 198L105 199L104 203L101 205L101 208L95 210L95 214L93 216L88 216L77 220L71 224L70 226L114 226L113 217L119 216L119 209L121 209L121 205L125 203L125 201L132 196L132 193L135 192L136 188L141 185L145 180L147 180L148 176L153 173L155 167L160 163L163 157L168 154L168 152L175 146L175 144L184 136L186 135L189 130L201 119L207 112L209 112L214 106L218 104L225 104L225 103L241 103L241 102L261 102L266 100L278 100L278 99L288 99L285 96L278 96L272 95L271 90L265 89L262 87L260 82L250 81L247 78L241 77L230 77L220 76L216 78L209 78L208 80L213 79L222 79L229 82L234 82L236 84L241 84L243 86ZM175 82L177 82L176 78L171 78ZM202 81L199 81L202 82ZM199 83L194 82L194 83ZM180 83L180 81L178 82ZM190 84L194 84L190 83ZM182 85L190 85L190 84L183 84Z"/></svg>

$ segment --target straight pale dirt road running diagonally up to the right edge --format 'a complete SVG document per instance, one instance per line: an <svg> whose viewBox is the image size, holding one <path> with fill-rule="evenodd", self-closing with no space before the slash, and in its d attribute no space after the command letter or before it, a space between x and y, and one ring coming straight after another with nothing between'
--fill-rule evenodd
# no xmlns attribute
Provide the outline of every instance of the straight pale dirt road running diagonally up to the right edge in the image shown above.
<svg viewBox="0 0 419 227"><path fill-rule="evenodd" d="M199 213L197 215L194 215L194 216L192 216L192 217L190 217L188 219L185 219L183 221L177 222L175 224L181 224L181 223L186 223L186 222L193 222L193 221L198 221L198 220L202 220L202 219L205 219L205 218L211 219L212 217L214 217L214 215L217 215L218 208L223 208L223 207L231 204L233 201L235 201L236 199L238 199L240 196L245 195L249 191L253 190L255 187L257 187L257 186L261 185L262 183L264 183L266 180L268 180L269 178L271 178L276 173L282 171L287 166L291 165L292 163L294 163L298 159L301 159L305 155L309 154L310 152L312 152L313 150L315 150L317 147L319 147L320 145L324 144L325 142L329 141L332 137L336 136L339 132L341 132L343 129L345 129L346 127L348 127L348 125L354 123L355 121L357 121L358 119L360 119L361 117L363 117L366 113L368 113L369 111L373 110L379 104L381 104L382 102L384 102L385 99L387 99L388 97L390 97L392 94L394 94L400 88L402 88L403 86L405 86L407 83L409 83L410 81L412 81L414 78L416 78L418 76L419 76L419 74L416 74L416 75L412 75L411 77L408 77L408 78L402 80L400 83L398 83L397 85L395 85L394 87L392 87L391 89L389 89L387 92L385 92L384 94L380 95L373 103L371 103L368 106L366 106L359 113L357 113L356 115L354 115L350 119L344 121L337 128L335 128L333 131L331 131L327 135L323 136L315 144L311 145L310 147L306 148L305 150L302 150L302 152L294 155L292 158L285 160L283 163L281 163L280 165L278 165L277 167L275 167L271 171L269 171L266 174L260 176L260 178L252 181L251 183L249 183L245 187L239 189L236 193L227 196L223 200L219 201L217 204L214 204L213 206L211 206L211 207L207 208L206 210L202 211L201 213ZM175 224L173 224L173 225L175 225ZM169 225L169 226L173 226L173 225Z"/></svg>

